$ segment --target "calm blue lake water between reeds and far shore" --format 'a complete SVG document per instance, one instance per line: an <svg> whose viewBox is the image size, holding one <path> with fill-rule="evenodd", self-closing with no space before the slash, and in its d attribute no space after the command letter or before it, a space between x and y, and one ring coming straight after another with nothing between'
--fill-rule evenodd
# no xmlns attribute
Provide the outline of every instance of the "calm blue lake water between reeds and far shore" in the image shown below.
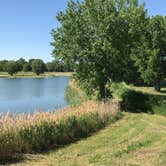
<svg viewBox="0 0 166 166"><path fill-rule="evenodd" d="M50 111L67 106L69 77L0 79L0 113Z"/></svg>

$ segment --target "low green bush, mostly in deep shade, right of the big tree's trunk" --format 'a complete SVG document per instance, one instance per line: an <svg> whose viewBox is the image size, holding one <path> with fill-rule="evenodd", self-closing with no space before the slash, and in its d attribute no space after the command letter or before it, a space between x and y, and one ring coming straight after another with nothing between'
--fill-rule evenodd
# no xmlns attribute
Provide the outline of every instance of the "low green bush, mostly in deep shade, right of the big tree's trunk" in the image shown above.
<svg viewBox="0 0 166 166"><path fill-rule="evenodd" d="M166 116L166 97L128 88L125 83L112 83L110 90L120 100L122 111L153 113Z"/></svg>

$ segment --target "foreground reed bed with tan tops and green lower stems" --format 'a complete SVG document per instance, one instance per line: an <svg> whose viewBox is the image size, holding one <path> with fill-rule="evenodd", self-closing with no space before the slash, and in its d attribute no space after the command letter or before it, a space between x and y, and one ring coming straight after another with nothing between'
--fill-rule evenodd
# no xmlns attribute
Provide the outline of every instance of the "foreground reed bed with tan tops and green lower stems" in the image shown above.
<svg viewBox="0 0 166 166"><path fill-rule="evenodd" d="M0 161L59 148L120 117L118 101L86 101L59 112L0 116Z"/></svg>

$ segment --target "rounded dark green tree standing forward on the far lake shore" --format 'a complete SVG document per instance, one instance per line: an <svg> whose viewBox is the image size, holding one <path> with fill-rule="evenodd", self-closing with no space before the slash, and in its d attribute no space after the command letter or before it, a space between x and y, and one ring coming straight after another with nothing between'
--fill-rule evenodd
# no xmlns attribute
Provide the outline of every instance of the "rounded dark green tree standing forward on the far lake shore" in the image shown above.
<svg viewBox="0 0 166 166"><path fill-rule="evenodd" d="M32 71L37 75L44 73L46 70L45 64L41 59L35 59L32 62Z"/></svg>

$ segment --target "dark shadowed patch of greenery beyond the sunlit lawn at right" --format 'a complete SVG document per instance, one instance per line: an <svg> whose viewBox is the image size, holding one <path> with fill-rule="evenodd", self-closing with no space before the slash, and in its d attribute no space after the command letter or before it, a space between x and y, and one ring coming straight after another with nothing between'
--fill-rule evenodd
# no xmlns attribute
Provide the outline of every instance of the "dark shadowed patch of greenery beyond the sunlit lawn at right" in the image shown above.
<svg viewBox="0 0 166 166"><path fill-rule="evenodd" d="M128 89L122 95L121 110L132 113L165 115L166 110L163 109L165 103L166 96L164 95L148 94Z"/></svg>

